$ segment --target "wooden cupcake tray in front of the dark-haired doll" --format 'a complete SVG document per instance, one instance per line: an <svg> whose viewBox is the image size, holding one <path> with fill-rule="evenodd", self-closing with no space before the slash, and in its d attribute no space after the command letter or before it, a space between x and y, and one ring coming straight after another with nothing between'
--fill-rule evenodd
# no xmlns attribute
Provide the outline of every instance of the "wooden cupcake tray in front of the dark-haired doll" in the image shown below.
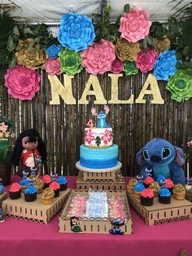
<svg viewBox="0 0 192 256"><path fill-rule="evenodd" d="M51 205L41 203L41 194L37 195L37 200L33 202L24 201L24 194L16 200L7 200L2 202L2 210L5 215L11 218L21 218L37 223L49 223L50 219L63 207L71 189L61 191L59 197Z"/></svg>

